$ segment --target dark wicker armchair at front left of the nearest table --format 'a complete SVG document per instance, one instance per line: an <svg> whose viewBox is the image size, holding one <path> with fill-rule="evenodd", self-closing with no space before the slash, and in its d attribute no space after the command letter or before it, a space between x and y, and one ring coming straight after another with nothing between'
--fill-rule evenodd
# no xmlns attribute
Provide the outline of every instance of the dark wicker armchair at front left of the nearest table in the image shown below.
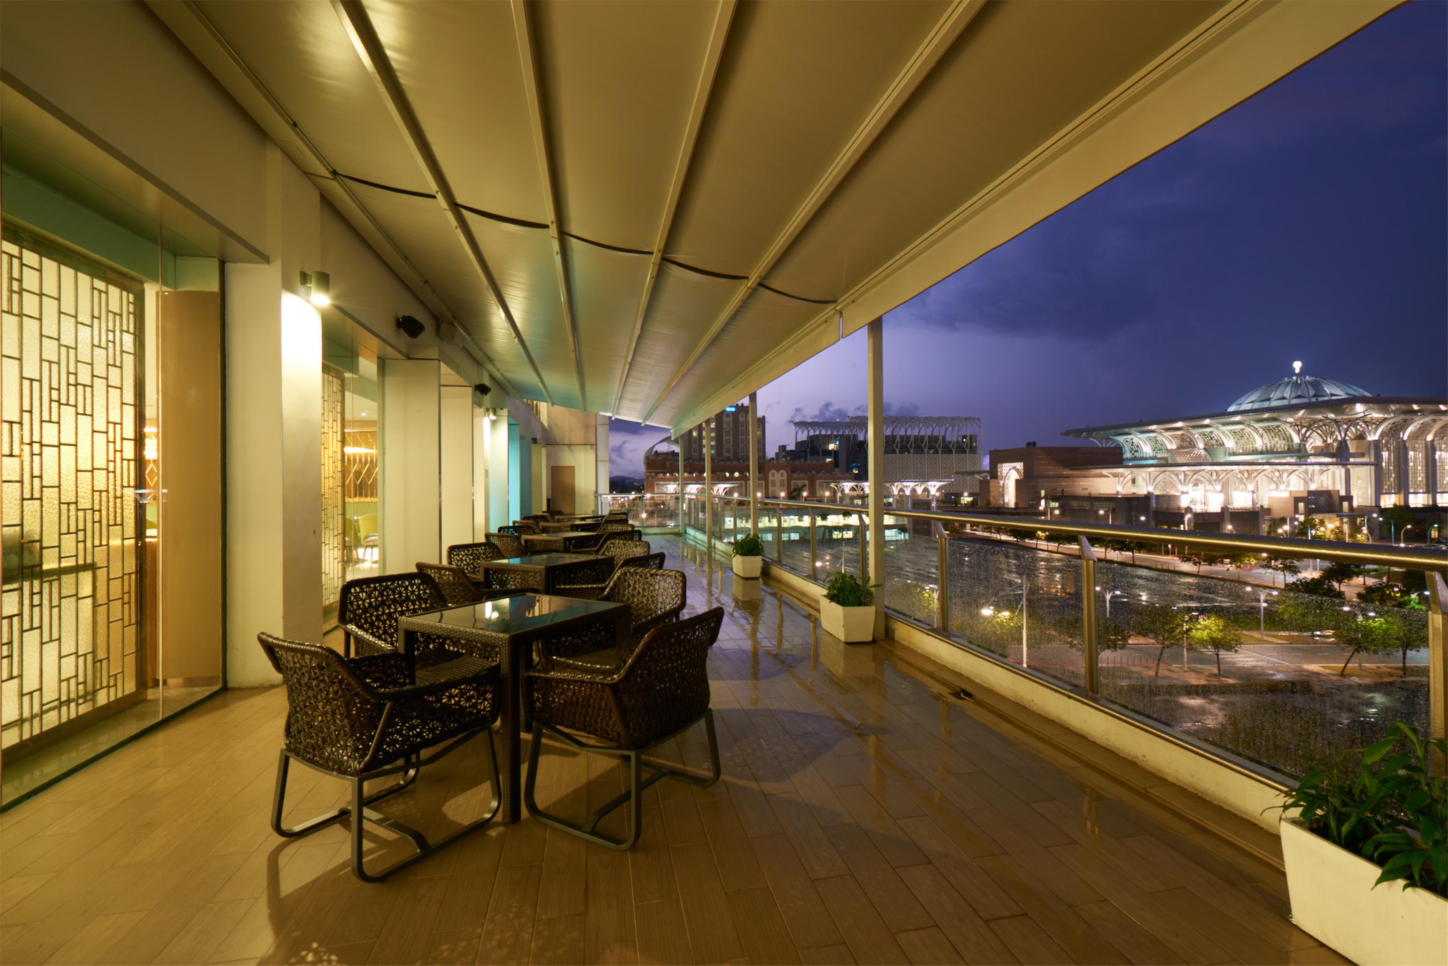
<svg viewBox="0 0 1448 966"><path fill-rule="evenodd" d="M258 634L256 639L287 686L287 726L271 817L272 831L278 836L306 836L350 818L352 875L363 882L381 882L484 827L498 812L501 784L491 731L498 718L500 678L495 663L458 658L414 669L407 655L343 658L329 647L271 634ZM478 736L487 739L492 779L492 802L482 818L433 843L421 831L372 811L374 804L411 785L423 766ZM443 742L447 742L445 747L423 756L426 749ZM300 826L282 826L287 772L292 759L350 784L352 804ZM392 775L401 778L372 794L363 792L365 782ZM385 869L368 872L362 860L366 821L410 839L417 852Z"/></svg>

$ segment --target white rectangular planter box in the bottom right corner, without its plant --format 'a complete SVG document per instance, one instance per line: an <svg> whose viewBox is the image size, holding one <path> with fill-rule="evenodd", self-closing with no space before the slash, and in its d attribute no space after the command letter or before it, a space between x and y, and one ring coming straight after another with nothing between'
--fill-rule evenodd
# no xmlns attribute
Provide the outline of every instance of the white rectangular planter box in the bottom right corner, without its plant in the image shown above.
<svg viewBox="0 0 1448 966"><path fill-rule="evenodd" d="M1448 957L1448 899L1402 882L1373 888L1376 865L1281 823L1292 921L1360 966L1420 966Z"/></svg>

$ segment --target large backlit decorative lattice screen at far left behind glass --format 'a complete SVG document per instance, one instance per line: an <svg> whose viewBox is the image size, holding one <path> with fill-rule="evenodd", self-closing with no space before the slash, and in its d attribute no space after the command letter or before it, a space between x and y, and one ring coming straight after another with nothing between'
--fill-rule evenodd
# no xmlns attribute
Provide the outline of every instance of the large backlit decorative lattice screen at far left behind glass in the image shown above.
<svg viewBox="0 0 1448 966"><path fill-rule="evenodd" d="M140 288L12 229L0 251L3 744L139 686Z"/></svg>

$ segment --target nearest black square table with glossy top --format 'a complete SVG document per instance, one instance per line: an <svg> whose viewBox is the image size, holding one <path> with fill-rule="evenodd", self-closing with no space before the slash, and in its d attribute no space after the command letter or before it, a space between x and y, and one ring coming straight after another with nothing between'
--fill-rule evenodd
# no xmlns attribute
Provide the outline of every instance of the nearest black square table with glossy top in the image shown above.
<svg viewBox="0 0 1448 966"><path fill-rule="evenodd" d="M502 688L498 692L498 724L502 731L502 821L523 817L523 672L531 666L533 649L560 652L597 650L628 634L627 604L579 601L571 597L517 594L479 604L449 607L400 617L397 633L404 652L411 636L447 637L460 650L491 658L498 655Z"/></svg>

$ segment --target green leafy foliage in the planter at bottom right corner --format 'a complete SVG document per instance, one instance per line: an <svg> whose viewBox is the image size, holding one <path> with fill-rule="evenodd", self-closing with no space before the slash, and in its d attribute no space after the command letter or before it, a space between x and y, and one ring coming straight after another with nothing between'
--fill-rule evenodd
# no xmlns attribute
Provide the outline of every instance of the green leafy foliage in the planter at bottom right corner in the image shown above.
<svg viewBox="0 0 1448 966"><path fill-rule="evenodd" d="M1448 740L1396 721L1376 744L1312 762L1276 808L1296 810L1308 831L1381 866L1374 886L1402 881L1448 896L1448 782L1432 773L1434 750L1448 755Z"/></svg>

